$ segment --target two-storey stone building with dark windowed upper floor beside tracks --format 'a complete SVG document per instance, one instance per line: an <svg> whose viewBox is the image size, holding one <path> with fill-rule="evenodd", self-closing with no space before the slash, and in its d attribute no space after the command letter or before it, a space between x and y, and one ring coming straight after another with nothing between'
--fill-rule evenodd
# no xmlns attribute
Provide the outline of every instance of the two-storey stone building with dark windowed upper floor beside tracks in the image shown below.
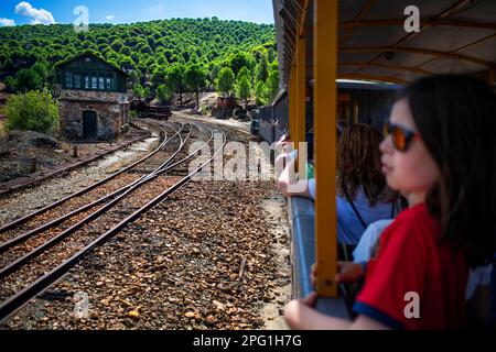
<svg viewBox="0 0 496 352"><path fill-rule="evenodd" d="M61 131L67 140L114 141L129 123L129 75L80 54L57 65Z"/></svg>

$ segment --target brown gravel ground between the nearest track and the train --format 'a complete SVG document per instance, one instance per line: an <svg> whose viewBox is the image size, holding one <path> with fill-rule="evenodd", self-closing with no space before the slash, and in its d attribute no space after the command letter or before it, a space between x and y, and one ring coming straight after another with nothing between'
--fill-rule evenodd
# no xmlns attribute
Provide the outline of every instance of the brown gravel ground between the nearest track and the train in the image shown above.
<svg viewBox="0 0 496 352"><path fill-rule="evenodd" d="M284 330L288 227L272 182L192 183L74 267L51 290L62 301L40 297L9 328Z"/></svg>

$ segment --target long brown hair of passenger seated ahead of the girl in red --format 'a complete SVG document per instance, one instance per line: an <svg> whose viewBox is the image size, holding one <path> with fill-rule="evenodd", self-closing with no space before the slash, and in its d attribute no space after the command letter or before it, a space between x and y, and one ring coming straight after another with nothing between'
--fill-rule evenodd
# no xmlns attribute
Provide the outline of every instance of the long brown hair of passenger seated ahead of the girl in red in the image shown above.
<svg viewBox="0 0 496 352"><path fill-rule="evenodd" d="M380 132L367 124L353 124L346 129L338 144L337 193L353 200L363 187L370 206L382 201L386 179L380 170Z"/></svg>

